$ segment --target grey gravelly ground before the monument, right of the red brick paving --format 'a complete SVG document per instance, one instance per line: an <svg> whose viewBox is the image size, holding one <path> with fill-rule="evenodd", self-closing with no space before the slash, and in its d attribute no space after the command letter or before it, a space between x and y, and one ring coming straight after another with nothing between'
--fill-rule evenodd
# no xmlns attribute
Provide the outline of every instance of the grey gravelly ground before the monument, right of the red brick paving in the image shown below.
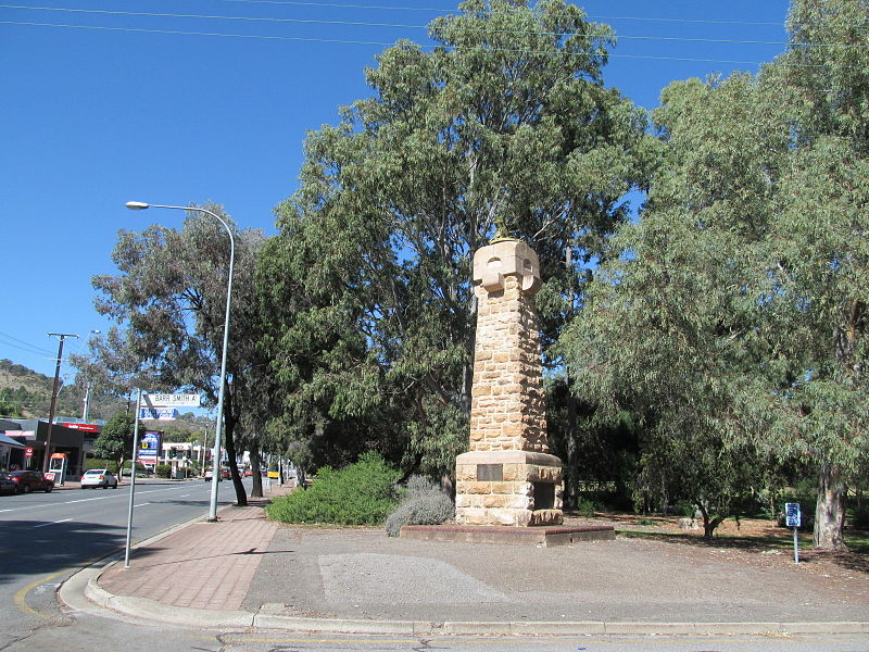
<svg viewBox="0 0 869 652"><path fill-rule="evenodd" d="M617 526L618 527L618 526ZM866 620L869 575L761 547L620 537L537 548L282 526L244 609L425 620Z"/></svg>

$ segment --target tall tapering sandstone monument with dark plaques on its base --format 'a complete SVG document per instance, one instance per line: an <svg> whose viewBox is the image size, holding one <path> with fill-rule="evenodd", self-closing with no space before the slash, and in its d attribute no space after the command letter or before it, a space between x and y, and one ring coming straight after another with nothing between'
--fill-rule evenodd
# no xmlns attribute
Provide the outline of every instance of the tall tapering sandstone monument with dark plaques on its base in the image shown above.
<svg viewBox="0 0 869 652"><path fill-rule="evenodd" d="M456 523L558 525L562 462L546 444L537 253L498 239L475 253L474 283L470 450L456 457Z"/></svg>

